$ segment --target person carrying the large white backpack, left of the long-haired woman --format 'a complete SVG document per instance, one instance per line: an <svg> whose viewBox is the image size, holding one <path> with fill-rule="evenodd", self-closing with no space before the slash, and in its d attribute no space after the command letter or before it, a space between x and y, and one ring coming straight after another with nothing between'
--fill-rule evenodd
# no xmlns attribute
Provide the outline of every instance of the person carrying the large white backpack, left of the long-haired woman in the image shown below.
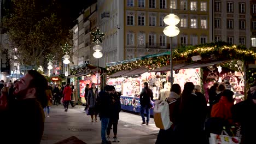
<svg viewBox="0 0 256 144"><path fill-rule="evenodd" d="M166 99L168 106L169 106L169 117L170 117L170 121L173 123L171 125L171 128L164 130L164 129L160 129L159 133L158 133L158 138L156 139L155 144L161 144L161 143L166 143L166 142L170 142L170 137L173 137L173 128L175 125L175 118L173 116L173 112L174 112L174 107L177 107L177 99L179 98L179 95L181 95L181 86L179 86L179 84L175 83L172 85L171 87L171 93L169 95L169 97ZM172 141L173 142L173 141ZM173 142L174 143L174 142Z"/></svg>

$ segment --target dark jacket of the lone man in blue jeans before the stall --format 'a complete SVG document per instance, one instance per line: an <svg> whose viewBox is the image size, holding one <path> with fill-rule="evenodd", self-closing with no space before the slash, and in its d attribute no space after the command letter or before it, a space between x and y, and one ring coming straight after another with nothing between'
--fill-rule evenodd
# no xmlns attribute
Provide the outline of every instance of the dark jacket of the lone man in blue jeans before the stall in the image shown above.
<svg viewBox="0 0 256 144"><path fill-rule="evenodd" d="M142 92L140 94L140 101L141 106L149 106L150 105L150 99L153 100L153 92L148 87L145 87L142 89ZM148 107L150 108L150 107Z"/></svg>

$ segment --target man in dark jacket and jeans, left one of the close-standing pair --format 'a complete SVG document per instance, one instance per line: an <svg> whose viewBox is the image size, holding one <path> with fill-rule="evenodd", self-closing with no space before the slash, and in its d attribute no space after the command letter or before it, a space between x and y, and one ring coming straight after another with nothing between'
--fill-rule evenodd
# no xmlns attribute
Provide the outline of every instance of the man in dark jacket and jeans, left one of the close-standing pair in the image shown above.
<svg viewBox="0 0 256 144"><path fill-rule="evenodd" d="M99 117L101 120L101 140L102 140L102 144L109 144L111 143L110 141L108 141L106 139L106 130L108 127L108 123L109 123L109 118L111 116L111 96L110 94L113 93L113 89L111 89L111 87L109 85L107 85L105 87L106 91L101 91L98 95L99 98L97 100L97 107L99 110Z"/></svg>

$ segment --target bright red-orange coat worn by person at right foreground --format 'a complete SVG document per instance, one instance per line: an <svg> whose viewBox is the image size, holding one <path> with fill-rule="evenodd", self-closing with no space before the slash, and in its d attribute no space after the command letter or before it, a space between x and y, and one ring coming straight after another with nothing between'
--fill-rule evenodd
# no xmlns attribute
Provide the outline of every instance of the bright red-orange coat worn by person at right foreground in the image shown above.
<svg viewBox="0 0 256 144"><path fill-rule="evenodd" d="M228 120L229 123L232 123L232 106L234 103L228 101L228 99L222 96L219 100L219 103L212 106L211 117L218 117L224 120Z"/></svg>

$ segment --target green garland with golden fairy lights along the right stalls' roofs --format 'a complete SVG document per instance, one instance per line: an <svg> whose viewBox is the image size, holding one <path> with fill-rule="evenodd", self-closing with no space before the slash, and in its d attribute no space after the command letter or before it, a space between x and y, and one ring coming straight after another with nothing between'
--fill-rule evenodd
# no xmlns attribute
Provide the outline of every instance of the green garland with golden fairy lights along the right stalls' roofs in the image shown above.
<svg viewBox="0 0 256 144"><path fill-rule="evenodd" d="M254 61L256 53L247 50L244 46L229 45L225 42L201 44L196 46L182 46L173 51L173 61L184 61L191 63L191 57L200 55L202 61L215 59L238 59L240 61ZM129 63L121 63L107 67L107 74L111 75L121 70L131 70L132 68L146 67L149 70L160 68L170 64L170 55L151 57L131 61Z"/></svg>

